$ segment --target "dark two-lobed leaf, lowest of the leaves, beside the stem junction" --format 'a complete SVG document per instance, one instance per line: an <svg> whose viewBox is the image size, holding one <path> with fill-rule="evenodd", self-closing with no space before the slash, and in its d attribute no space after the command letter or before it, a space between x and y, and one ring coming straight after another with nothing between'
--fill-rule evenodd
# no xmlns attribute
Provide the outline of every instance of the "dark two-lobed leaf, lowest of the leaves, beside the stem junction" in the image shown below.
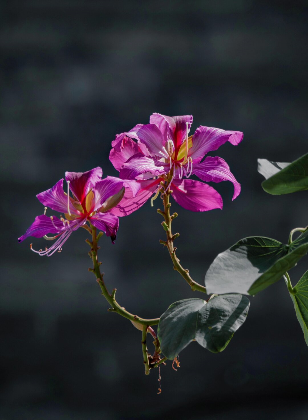
<svg viewBox="0 0 308 420"><path fill-rule="evenodd" d="M191 341L210 352L222 352L246 319L249 300L241 294L172 303L158 324L158 339L164 356L173 360Z"/></svg>

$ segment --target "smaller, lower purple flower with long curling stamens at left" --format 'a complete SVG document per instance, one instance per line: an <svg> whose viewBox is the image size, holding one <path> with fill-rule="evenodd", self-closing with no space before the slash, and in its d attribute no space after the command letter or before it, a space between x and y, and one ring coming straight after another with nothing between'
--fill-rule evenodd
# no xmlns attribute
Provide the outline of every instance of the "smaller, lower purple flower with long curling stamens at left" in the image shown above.
<svg viewBox="0 0 308 420"><path fill-rule="evenodd" d="M116 238L119 227L119 219L112 213L113 208L121 201L125 194L125 189L130 190L132 197L136 196L140 189L140 184L136 181L127 181L112 176L102 178L101 168L94 168L87 172L65 172L67 182L67 193L63 191L63 178L47 191L37 194L39 201L46 206L44 214L35 218L34 223L28 228L26 233L18 238L21 242L28 236L55 240L51 247L44 251L37 252L39 255L50 257L56 251L60 252L62 245L67 241L73 231L84 226L87 221L100 231L105 232L111 237L112 243ZM70 196L70 191L73 197ZM65 217L60 215L47 217L46 210L50 207ZM55 234L48 237L47 234Z"/></svg>

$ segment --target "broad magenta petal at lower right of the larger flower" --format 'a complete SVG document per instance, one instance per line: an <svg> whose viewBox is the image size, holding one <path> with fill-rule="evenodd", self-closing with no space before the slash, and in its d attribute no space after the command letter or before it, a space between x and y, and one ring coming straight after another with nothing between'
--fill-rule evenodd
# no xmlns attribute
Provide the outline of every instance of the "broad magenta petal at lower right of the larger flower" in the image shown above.
<svg viewBox="0 0 308 420"><path fill-rule="evenodd" d="M208 184L193 179L176 179L170 187L172 197L182 207L191 211L222 209L222 197Z"/></svg>

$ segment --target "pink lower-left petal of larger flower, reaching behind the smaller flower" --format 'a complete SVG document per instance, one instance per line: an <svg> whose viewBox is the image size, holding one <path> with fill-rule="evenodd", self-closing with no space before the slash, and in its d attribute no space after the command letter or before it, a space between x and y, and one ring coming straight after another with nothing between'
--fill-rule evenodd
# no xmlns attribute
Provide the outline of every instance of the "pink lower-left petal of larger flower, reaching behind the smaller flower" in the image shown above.
<svg viewBox="0 0 308 420"><path fill-rule="evenodd" d="M138 210L138 208L144 205L151 195L157 191L159 182L160 179L138 181L141 188L136 197L133 197L133 193L130 189L126 189L123 199L116 207L110 210L110 212L118 217L122 217Z"/></svg>

